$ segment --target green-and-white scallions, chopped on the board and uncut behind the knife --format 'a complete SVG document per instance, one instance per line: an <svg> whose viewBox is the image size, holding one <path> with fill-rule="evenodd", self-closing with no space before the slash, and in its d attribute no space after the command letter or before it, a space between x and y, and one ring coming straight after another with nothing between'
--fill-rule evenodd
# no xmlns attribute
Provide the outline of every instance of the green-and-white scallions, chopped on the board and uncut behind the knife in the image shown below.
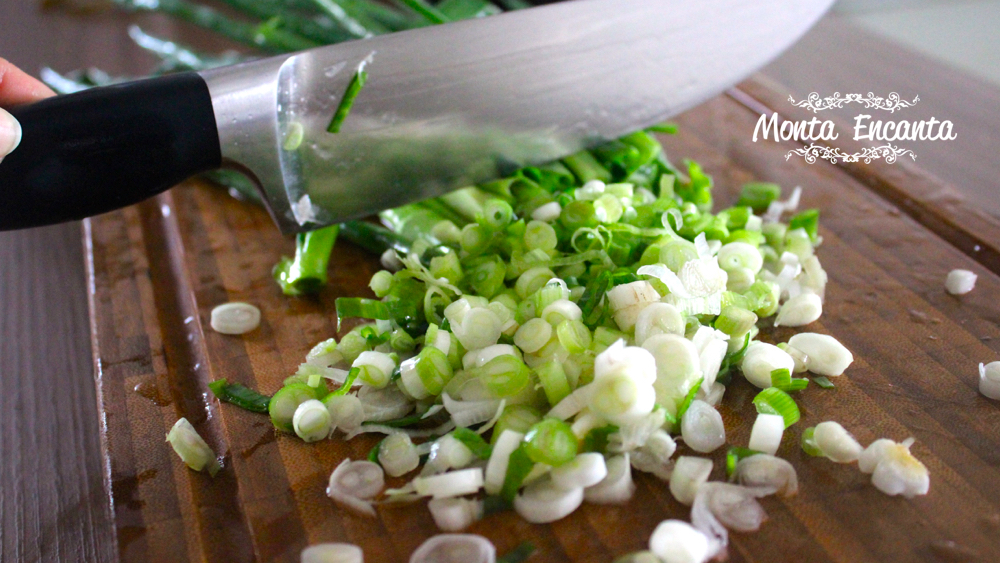
<svg viewBox="0 0 1000 563"><path fill-rule="evenodd" d="M191 0L115 0L267 53L530 6L523 0L221 2L231 10ZM137 27L130 34L160 57L158 74L244 59L207 56ZM45 69L43 77L60 92L118 80L97 70L60 76ZM363 85L360 69L357 78L355 90ZM331 131L346 117L349 103L342 106ZM239 175L214 178L255 197ZM295 256L274 271L286 294L324 285L340 236L382 256L386 270L370 284L377 299L338 299L338 322L362 324L339 342L317 344L273 396L225 380L211 390L269 414L276 428L306 441L383 434L369 460L344 460L330 477L330 497L359 513L374 515L377 503L428 498L435 522L449 532L510 508L530 522L551 522L584 501L626 502L635 469L669 481L672 495L691 505L691 523L664 521L649 551L621 561L700 563L723 554L727 529L751 531L764 520L756 497L798 489L795 470L774 456L799 419L794 393L832 388L829 377L841 375L853 357L821 334L797 334L778 346L754 340L764 319L799 327L822 313L818 212L793 214L800 190L783 201L777 185L748 184L735 206L713 214L711 188L700 166L676 168L641 131L385 211L385 227L348 222L300 235ZM247 304L220 310L213 326L251 330L259 318L254 311ZM795 377L806 371L814 377ZM984 381L994 375L982 371ZM753 400L759 415L748 444L728 450L728 482L711 482L710 459L674 454L678 439L694 454L726 444L715 406L735 372L762 389ZM167 439L192 469L219 469L185 419ZM928 490L927 469L909 453L911 440L862 448L828 421L801 432L801 443L811 455L858 461L887 494ZM385 473L412 478L384 491ZM449 560L447 553L461 550L475 554L463 563L514 563L532 549L525 544L497 559L485 538L445 534L418 548L411 562ZM362 557L346 544L302 553L304 563Z"/></svg>

